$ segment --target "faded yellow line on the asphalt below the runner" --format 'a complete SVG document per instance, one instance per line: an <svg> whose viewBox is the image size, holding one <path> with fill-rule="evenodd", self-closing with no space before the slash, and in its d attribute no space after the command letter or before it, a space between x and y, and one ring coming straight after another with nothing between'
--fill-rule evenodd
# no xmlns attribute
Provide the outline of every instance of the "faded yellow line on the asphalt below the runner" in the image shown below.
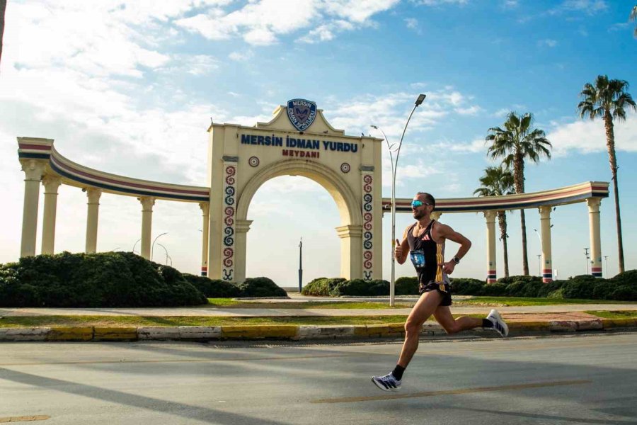
<svg viewBox="0 0 637 425"><path fill-rule="evenodd" d="M316 404L316 403L371 402L371 401L379 401L379 400L387 400L387 399L435 397L437 395L458 395L458 394L468 394L470 392L526 390L527 388L561 387L564 385L583 385L583 384L590 384L590 383L592 383L592 381L590 380L535 382L532 384L500 385L498 387L476 387L476 388L463 388L461 390L412 392L410 394L392 394L392 395L376 395L371 397L340 397L340 398L333 398L333 399L317 399L317 400L311 401L311 403Z"/></svg>

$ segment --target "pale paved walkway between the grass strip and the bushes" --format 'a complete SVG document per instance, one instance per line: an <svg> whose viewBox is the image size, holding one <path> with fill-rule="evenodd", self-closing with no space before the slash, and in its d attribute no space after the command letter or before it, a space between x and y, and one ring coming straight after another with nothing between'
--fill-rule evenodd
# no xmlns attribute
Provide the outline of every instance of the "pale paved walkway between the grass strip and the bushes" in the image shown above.
<svg viewBox="0 0 637 425"><path fill-rule="evenodd" d="M454 314L488 313L493 307L452 306ZM558 313L584 312L588 310L637 310L637 304L565 304L565 305L529 305L524 307L497 307L501 313ZM52 316L52 315L89 315L89 316L237 316L237 317L275 317L275 316L389 316L407 315L411 308L395 309L300 309L300 308L222 308L222 307L175 307L175 308L0 308L0 316Z"/></svg>

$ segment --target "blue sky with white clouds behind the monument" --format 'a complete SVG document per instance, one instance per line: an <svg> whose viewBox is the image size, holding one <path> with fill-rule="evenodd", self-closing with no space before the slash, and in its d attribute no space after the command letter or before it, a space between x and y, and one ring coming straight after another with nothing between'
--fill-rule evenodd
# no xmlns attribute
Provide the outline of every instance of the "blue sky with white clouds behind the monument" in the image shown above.
<svg viewBox="0 0 637 425"><path fill-rule="evenodd" d="M253 125L269 120L290 98L315 101L347 134L367 134L375 124L397 140L413 100L427 94L403 144L400 197L423 190L438 198L471 196L492 164L483 144L487 130L501 125L508 111L534 113L535 126L553 142L550 162L527 166L527 191L609 181L602 123L580 120L576 106L583 85L598 74L637 84L635 23L628 21L634 4L9 0L0 63L0 262L19 253L23 173L17 136L55 139L65 157L102 171L203 186L210 118ZM636 114L616 123L615 132L626 268L635 268ZM389 170L386 155L386 197ZM59 193L56 251L81 251L85 195L67 186ZM140 210L134 198L103 195L98 250L132 249L141 233ZM196 273L198 206L158 201L154 211L154 234L168 232L161 241L173 265ZM338 275L338 211L318 184L300 177L268 181L248 218L254 220L248 276L295 285L299 237L304 281ZM583 273L585 204L558 208L552 219L558 276ZM474 241L456 276L485 278L483 217L443 215L441 221ZM398 215L398 232L410 222L409 215ZM509 222L510 268L521 273L519 212ZM390 224L385 215L385 278ZM527 210L532 273L538 226L538 213ZM498 276L501 251L498 244ZM609 257L609 273L616 273L612 198L602 202L602 256ZM397 268L397 276L412 275L408 264Z"/></svg>

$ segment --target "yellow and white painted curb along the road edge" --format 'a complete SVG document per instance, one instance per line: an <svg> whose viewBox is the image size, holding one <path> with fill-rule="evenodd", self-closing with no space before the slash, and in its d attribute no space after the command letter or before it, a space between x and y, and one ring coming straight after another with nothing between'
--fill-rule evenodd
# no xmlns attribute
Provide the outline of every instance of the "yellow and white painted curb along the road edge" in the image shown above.
<svg viewBox="0 0 637 425"><path fill-rule="evenodd" d="M511 322L510 334L551 334L637 328L637 318ZM475 329L474 334L483 334ZM436 322L423 324L425 335L444 335ZM213 341L242 339L369 339L405 336L403 323L357 325L233 325L179 327L30 327L0 328L0 342L17 341Z"/></svg>

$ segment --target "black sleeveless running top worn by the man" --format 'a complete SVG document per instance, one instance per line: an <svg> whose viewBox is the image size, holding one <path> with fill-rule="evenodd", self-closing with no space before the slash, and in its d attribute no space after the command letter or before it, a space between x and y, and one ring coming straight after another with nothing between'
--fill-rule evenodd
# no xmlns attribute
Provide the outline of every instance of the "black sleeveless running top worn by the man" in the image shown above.
<svg viewBox="0 0 637 425"><path fill-rule="evenodd" d="M439 263L442 264L444 261L444 243L437 244L431 235L434 222L435 220L431 220L420 237L413 236L413 228L418 222L411 225L407 232L409 256L411 263L416 269L420 285L426 285L432 280L435 282L447 280L447 276L442 273L442 266L438 266Z"/></svg>

